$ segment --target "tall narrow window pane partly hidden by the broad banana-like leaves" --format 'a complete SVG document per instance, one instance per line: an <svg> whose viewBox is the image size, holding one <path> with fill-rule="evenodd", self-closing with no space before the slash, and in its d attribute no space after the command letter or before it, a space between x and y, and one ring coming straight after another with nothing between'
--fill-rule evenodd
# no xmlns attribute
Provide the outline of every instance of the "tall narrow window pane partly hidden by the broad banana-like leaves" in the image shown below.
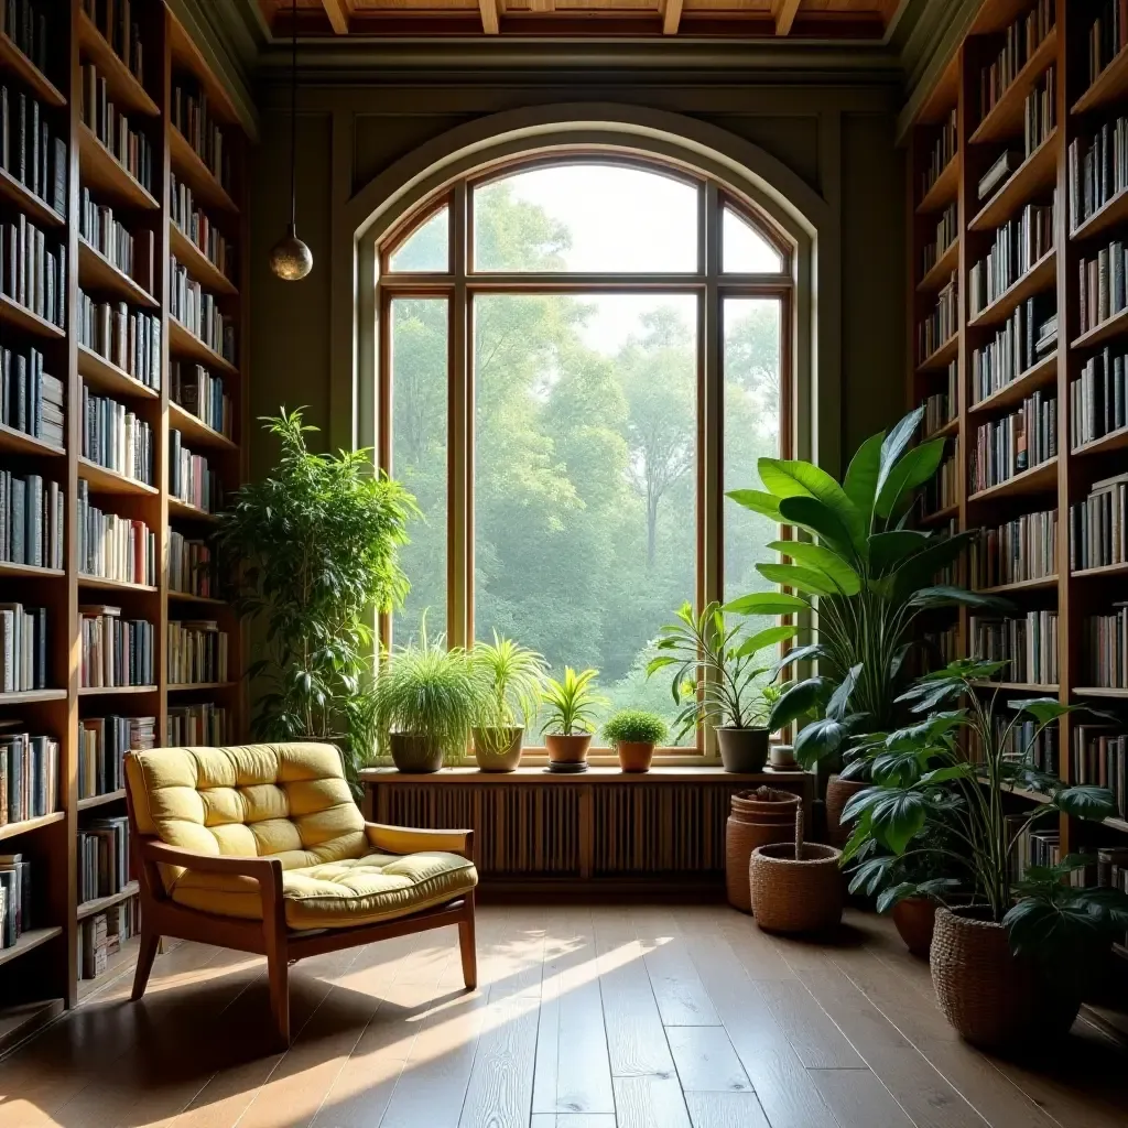
<svg viewBox="0 0 1128 1128"><path fill-rule="evenodd" d="M779 343L782 302L728 298L724 318L724 490L761 490L757 460L779 456ZM777 558L765 546L779 530L766 517L724 501L724 598L774 591L756 571ZM749 631L775 619L750 619Z"/></svg>

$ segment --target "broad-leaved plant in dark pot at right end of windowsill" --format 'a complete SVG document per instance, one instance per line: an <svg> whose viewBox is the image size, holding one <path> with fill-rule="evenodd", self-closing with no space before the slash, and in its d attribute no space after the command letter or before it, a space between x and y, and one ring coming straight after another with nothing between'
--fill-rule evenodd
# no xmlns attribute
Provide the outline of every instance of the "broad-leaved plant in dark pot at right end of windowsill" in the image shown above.
<svg viewBox="0 0 1128 1128"><path fill-rule="evenodd" d="M740 625L725 623L720 603L708 603L697 616L682 603L677 622L659 632L659 653L646 666L647 677L673 668L671 691L681 706L678 738L711 724L725 772L763 772L775 699L766 682L774 675L773 666L756 664L756 655L795 633L795 627L778 626L748 636Z"/></svg>

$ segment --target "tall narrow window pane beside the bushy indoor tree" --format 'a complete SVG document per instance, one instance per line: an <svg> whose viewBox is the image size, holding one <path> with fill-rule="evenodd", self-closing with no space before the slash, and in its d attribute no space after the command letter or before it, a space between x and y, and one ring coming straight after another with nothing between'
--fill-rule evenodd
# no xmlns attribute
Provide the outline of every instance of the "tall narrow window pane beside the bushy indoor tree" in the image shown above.
<svg viewBox="0 0 1128 1128"><path fill-rule="evenodd" d="M423 521L400 562L412 590L394 627L397 643L447 629L447 301L391 302L391 473L415 494Z"/></svg>

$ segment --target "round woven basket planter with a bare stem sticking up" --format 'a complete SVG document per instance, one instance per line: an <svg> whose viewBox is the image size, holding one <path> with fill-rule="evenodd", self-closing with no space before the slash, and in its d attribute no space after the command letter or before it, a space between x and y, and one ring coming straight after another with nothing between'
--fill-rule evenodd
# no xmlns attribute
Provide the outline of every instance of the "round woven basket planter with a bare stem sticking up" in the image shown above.
<svg viewBox="0 0 1128 1128"><path fill-rule="evenodd" d="M795 841L760 846L749 863L752 914L765 932L821 932L843 916L841 851L803 841L803 812Z"/></svg>

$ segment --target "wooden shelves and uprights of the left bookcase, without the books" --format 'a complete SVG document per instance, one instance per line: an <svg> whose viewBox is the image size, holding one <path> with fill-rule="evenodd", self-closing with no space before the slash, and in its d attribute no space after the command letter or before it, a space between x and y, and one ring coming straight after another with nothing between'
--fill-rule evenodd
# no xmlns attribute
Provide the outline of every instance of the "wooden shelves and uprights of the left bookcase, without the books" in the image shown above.
<svg viewBox="0 0 1128 1128"><path fill-rule="evenodd" d="M140 519L156 534L157 558L166 562L170 526L186 536L206 536L214 517L173 502L168 493L170 429L183 432L194 453L209 459L223 485L232 488L247 476L246 422L247 387L247 268L248 223L246 218L247 156L246 127L231 100L221 95L222 83L213 76L205 55L196 50L188 33L177 23L164 0L134 3L143 52L143 81L138 81L120 59L102 29L87 16L83 0L43 0L50 9L50 73L41 73L12 42L0 36L0 73L10 90L26 90L44 105L44 120L54 135L68 143L69 175L67 214L61 215L33 195L18 179L0 170L0 213L25 214L50 239L59 239L67 257L69 288L65 329L52 325L30 309L0 296L0 335L9 346L34 346L45 358L45 369L64 386L65 443L55 448L11 428L0 426L0 465L42 474L58 482L65 499L64 567L33 567L0 562L0 580L7 599L49 611L50 688L18 694L0 694L0 720L21 722L20 731L44 733L60 743L60 807L43 818L0 827L6 851L19 851L32 860L38 919L18 944L0 950L0 1050L26 1038L62 1008L77 1005L81 995L99 989L106 977L82 980L79 988L77 945L80 922L136 896L136 883L109 897L83 905L78 892L78 832L90 819L124 812L124 793L112 792L78 797L79 733L86 719L107 714L156 717L158 744L168 735L170 702L215 700L228 711L229 739L245 732L244 682L245 641L238 617L220 600L206 601L206 615L220 622L229 634L230 682L205 686L169 686L166 675L167 633L171 613L177 617L201 609L193 600L169 590L166 564L155 584L123 583L87 575L79 570L76 544L78 483L85 479L91 504L104 512ZM81 121L80 68L92 63L109 89L111 100L129 117L152 150L153 183L139 183ZM233 184L222 188L173 125L173 91L182 79L208 91L224 130L231 152ZM206 256L176 230L170 220L168 177L175 173L191 184L209 218L219 226L235 248L240 275L229 279ZM78 233L81 188L89 188L96 203L114 208L117 219L136 237L153 232L156 248L152 292L112 265ZM235 321L236 362L228 363L169 318L169 257L175 255L204 290L214 293L226 315ZM142 276L141 274L138 275ZM161 353L159 387L149 387L117 364L78 340L78 287L96 301L125 302L131 310L156 316L160 324ZM224 384L231 398L233 430L230 438L218 434L201 420L171 404L169 362L203 364ZM146 422L152 430L153 484L136 482L81 457L81 404L83 384L98 395L111 396ZM129 618L146 619L153 626L155 677L151 684L118 687L80 687L79 605L121 605ZM191 694L188 693L191 690ZM212 696L214 695L214 696ZM135 951L135 945L131 951ZM129 955L126 955L126 961ZM121 962L121 961L118 961ZM127 963L126 963L127 966Z"/></svg>

